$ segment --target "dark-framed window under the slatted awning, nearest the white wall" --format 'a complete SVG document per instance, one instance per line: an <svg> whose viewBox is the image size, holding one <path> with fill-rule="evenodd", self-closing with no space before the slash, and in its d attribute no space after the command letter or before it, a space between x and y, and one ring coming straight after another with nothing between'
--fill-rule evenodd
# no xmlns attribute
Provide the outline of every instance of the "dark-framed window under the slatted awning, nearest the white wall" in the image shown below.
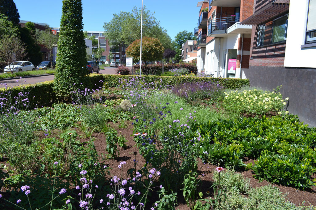
<svg viewBox="0 0 316 210"><path fill-rule="evenodd" d="M272 43L282 42L286 40L287 28L288 28L288 14L276 20L273 20Z"/></svg>

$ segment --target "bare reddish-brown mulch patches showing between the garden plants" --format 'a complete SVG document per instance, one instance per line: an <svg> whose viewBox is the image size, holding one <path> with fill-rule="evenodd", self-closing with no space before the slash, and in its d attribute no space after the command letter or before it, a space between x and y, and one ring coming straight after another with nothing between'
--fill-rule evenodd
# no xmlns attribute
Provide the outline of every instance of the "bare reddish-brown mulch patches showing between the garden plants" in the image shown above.
<svg viewBox="0 0 316 210"><path fill-rule="evenodd" d="M118 175L120 176L121 174L121 169L118 168L118 165L121 161L125 161L126 164L123 167L123 175L127 174L127 170L129 168L134 168L134 159L136 159L137 161L137 169L139 169L140 167L142 167L144 165L144 159L143 157L138 153L138 149L135 146L135 142L134 142L134 136L133 136L133 125L131 125L131 121L127 121L127 128L123 128L123 129L119 129L117 124L113 124L112 122L109 123L110 126L112 128L115 128L118 131L118 135L122 135L125 136L125 139L128 140L126 142L127 145L127 149L124 150L123 148L119 147L119 157L114 158L114 159L106 159L104 160L102 158L102 155L105 157L105 154L107 154L106 152L106 138L104 133L94 133L92 136L94 137L94 145L95 145L95 149L98 152L98 154L100 155L100 162L102 162L102 164L107 165L108 167L111 167L112 169L110 169L110 173L111 176L114 175ZM75 129L75 128L73 128ZM82 132L79 130L79 128L76 128L76 132L78 133L78 135L83 135ZM59 131L54 131L54 133L52 135L58 135ZM79 138L78 136L78 138ZM81 142L87 142L90 139L89 138L79 138ZM136 156L134 156L134 152L137 152ZM253 160L246 160L245 163L249 163L249 162L253 162ZM7 164L7 162L5 160L3 160L1 162L2 164ZM9 165L8 165L9 166ZM201 160L198 161L198 172L200 173L200 178L202 181L202 186L201 186L201 192L203 192L204 195L206 195L206 191L210 190L210 186L213 184L212 181L212 177L213 177L213 172L215 171L216 166L215 165L211 165L211 164L203 164ZM267 184L271 184L267 181L262 181L262 182L258 182L258 179L254 179L253 178L253 172L252 171L243 171L240 172L244 175L245 178L249 178L250 179L250 184L251 187L255 188L255 187L260 187L260 186L264 186ZM127 178L127 175L125 176L125 178ZM313 178L316 178L315 174L313 175ZM306 191L302 191L302 190L297 190L293 187L286 187L283 185L276 185L276 184L272 184L273 186L276 186L280 189L280 191L284 194L287 194L287 198L289 199L290 202L294 203L295 205L301 205L302 201L306 201L305 205L309 205L312 204L313 206L316 206L316 186L313 186L312 189L307 189ZM2 188L0 190L4 192L6 189ZM211 190L210 190L211 191ZM176 206L176 209L179 210L187 210L190 209L189 207L186 206L185 200L182 196L182 192L178 192L178 205ZM149 199L149 203L154 203L155 201L158 200L158 196L155 195L155 193L153 193L153 196Z"/></svg>

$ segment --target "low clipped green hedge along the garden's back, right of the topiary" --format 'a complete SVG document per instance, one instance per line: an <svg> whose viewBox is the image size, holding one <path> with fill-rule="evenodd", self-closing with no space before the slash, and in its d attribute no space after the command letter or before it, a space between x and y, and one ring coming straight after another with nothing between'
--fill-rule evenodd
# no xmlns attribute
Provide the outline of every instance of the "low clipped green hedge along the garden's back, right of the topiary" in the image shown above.
<svg viewBox="0 0 316 210"><path fill-rule="evenodd" d="M97 75L96 75L97 76ZM103 81L106 82L108 87L117 87L121 84L122 80L128 82L130 80L135 80L139 76L131 75L102 75ZM90 76L94 77L93 76ZM249 86L249 79L236 79L236 78L213 78L213 77L167 77L167 76L141 76L143 82L145 83L155 83L159 86L173 86L185 82L216 82L221 84L224 88L228 89L240 89L242 86ZM97 79L94 79L95 81Z"/></svg>

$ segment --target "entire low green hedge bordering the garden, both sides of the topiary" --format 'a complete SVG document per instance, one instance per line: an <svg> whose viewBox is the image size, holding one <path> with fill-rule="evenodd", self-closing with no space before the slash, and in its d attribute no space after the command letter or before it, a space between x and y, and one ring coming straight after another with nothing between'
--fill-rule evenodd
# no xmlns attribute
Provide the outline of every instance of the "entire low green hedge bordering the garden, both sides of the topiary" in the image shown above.
<svg viewBox="0 0 316 210"><path fill-rule="evenodd" d="M248 79L235 78L208 78L208 77L166 77L166 76L131 76L131 75L107 75L107 74L90 74L88 77L90 89L97 89L102 85L108 87L117 87L121 81L129 82L131 80L141 79L143 83L152 83L156 87L173 86L185 82L202 82L212 81L218 82L223 87L229 89L239 89L242 86L248 85ZM154 86L153 86L154 87ZM83 88L83 87L82 87ZM18 96L20 92L29 93L27 95L29 101L33 105L50 106L58 102L55 92L53 91L53 81L39 82L35 84L28 84L24 86L15 86L12 88L0 88L0 97L7 97L5 94L11 92L12 98ZM35 97L33 97L35 96ZM8 98L8 97L7 97ZM33 107L31 107L33 108Z"/></svg>

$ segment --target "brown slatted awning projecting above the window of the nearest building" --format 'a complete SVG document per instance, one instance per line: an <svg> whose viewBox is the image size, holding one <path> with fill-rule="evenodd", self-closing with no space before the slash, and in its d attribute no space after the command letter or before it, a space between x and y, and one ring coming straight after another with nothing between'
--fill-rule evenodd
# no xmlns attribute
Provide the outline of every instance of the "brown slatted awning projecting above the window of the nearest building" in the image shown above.
<svg viewBox="0 0 316 210"><path fill-rule="evenodd" d="M275 0L259 9L246 20L240 22L240 25L259 25L271 18L289 10L290 0Z"/></svg>

